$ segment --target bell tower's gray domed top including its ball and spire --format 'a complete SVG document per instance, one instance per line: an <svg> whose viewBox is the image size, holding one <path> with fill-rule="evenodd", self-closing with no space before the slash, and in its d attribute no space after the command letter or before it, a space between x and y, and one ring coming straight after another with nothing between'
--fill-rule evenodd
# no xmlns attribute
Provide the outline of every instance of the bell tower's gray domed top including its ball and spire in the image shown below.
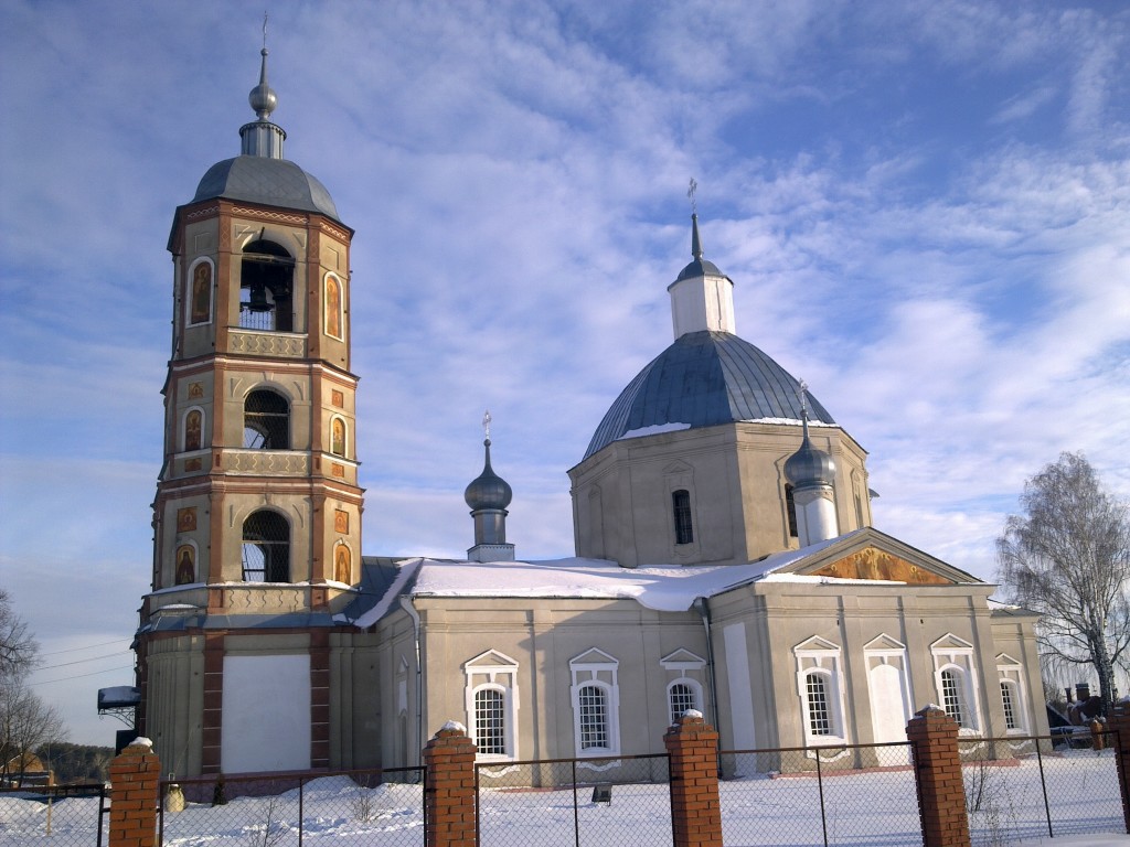
<svg viewBox="0 0 1130 847"><path fill-rule="evenodd" d="M318 180L282 158L286 132L270 120L278 96L267 82L267 49L262 50L259 85L247 102L255 120L240 128L241 155L217 161L203 175L192 202L224 198L263 206L316 212L340 220L337 206Z"/></svg>

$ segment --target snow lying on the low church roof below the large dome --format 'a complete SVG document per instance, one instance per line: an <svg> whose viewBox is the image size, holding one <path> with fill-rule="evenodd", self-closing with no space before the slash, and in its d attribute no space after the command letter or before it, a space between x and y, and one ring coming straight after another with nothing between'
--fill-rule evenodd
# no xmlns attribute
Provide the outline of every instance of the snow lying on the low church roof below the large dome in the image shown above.
<svg viewBox="0 0 1130 847"><path fill-rule="evenodd" d="M831 539L802 550L785 550L749 565L621 568L605 559L494 562L419 559L416 583L409 594L432 597L635 600L645 609L684 612L690 609L696 597L710 597L764 579L840 540ZM791 574L786 578L811 583L863 582ZM370 617L372 612L365 619ZM360 620L357 623L368 626Z"/></svg>

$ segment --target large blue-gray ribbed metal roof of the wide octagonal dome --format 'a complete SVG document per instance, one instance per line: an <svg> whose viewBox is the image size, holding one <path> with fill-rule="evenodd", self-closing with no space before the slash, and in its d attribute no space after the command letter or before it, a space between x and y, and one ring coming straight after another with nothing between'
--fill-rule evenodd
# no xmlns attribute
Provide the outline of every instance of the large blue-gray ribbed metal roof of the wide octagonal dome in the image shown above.
<svg viewBox="0 0 1130 847"><path fill-rule="evenodd" d="M584 457L645 427L800 420L799 394L800 383L748 341L728 332L692 332L661 352L620 393ZM810 420L835 425L816 398L809 394L808 399Z"/></svg>

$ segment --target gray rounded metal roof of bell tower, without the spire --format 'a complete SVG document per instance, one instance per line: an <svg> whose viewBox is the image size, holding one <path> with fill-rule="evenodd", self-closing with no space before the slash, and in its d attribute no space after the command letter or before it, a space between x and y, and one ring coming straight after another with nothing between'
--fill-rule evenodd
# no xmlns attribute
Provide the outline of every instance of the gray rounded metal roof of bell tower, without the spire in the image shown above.
<svg viewBox="0 0 1130 847"><path fill-rule="evenodd" d="M214 198L299 209L340 221L325 186L289 159L236 156L217 161L200 181L192 202Z"/></svg>

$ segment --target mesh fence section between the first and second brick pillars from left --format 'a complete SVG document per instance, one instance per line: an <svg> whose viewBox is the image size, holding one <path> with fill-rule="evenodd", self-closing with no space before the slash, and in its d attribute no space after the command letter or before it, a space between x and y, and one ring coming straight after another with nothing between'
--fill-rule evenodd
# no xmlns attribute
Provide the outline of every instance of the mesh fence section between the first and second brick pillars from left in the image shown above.
<svg viewBox="0 0 1130 847"><path fill-rule="evenodd" d="M407 768L163 783L162 844L421 847L423 779Z"/></svg>

